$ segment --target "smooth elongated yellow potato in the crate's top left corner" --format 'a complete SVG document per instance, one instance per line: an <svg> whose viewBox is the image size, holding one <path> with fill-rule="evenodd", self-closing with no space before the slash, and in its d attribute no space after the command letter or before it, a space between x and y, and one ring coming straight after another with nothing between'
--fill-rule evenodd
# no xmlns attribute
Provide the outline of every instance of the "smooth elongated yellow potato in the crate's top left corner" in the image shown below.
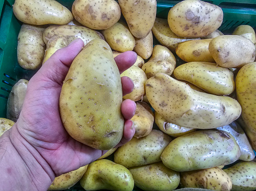
<svg viewBox="0 0 256 191"><path fill-rule="evenodd" d="M16 18L27 24L67 24L73 20L71 11L55 0L15 0L12 8Z"/></svg>

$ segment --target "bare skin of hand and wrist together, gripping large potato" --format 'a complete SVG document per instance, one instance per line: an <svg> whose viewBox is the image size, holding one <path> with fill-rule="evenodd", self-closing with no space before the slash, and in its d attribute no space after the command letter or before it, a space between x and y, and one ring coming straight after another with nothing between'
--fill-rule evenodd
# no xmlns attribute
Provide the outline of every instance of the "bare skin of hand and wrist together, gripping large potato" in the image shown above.
<svg viewBox="0 0 256 191"><path fill-rule="evenodd" d="M59 49L42 65L29 80L18 121L0 137L0 166L11 163L11 156L19 164L19 167L6 165L1 173L6 171L6 177L21 176L17 173L22 173L24 177L18 177L16 185L19 187L19 184L25 184L22 190L29 187L24 180L32 182L31 190L47 190L55 177L95 161L106 152L86 146L69 136L59 114L61 86L69 66L83 46L83 41L76 39L67 47ZM133 65L136 59L137 54L132 51L115 57L120 73ZM122 77L121 81L123 95L130 93L134 87L133 81L128 77ZM125 125L123 137L117 146L127 143L133 137L135 129L130 119L135 110L134 101L126 99L122 102L121 112ZM0 175L0 185L3 182L8 184L4 178ZM14 185L11 186L14 188ZM5 190L7 188L8 185Z"/></svg>

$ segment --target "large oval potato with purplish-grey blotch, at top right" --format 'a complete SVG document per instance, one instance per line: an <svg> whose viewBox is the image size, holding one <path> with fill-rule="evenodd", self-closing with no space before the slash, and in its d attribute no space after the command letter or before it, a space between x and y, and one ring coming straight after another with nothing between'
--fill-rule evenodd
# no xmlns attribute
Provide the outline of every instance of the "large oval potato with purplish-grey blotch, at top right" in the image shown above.
<svg viewBox="0 0 256 191"><path fill-rule="evenodd" d="M185 38L207 36L218 29L222 21L221 7L200 0L181 1L168 12L170 30Z"/></svg>

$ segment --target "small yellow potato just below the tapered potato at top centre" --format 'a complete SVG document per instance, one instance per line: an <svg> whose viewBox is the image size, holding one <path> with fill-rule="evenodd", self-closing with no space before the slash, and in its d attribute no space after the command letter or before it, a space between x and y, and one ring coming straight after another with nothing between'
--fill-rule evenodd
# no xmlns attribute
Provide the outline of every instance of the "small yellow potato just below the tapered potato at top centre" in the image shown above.
<svg viewBox="0 0 256 191"><path fill-rule="evenodd" d="M144 38L135 38L134 52L143 59L148 59L153 52L153 34L152 31Z"/></svg>

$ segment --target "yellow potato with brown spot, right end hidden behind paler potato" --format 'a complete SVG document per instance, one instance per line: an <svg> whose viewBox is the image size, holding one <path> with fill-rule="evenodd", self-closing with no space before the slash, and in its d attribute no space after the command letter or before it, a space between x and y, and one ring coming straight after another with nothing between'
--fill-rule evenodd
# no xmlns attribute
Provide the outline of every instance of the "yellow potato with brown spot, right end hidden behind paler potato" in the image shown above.
<svg viewBox="0 0 256 191"><path fill-rule="evenodd" d="M185 62L215 62L208 49L211 40L184 41L176 47L176 54Z"/></svg>

